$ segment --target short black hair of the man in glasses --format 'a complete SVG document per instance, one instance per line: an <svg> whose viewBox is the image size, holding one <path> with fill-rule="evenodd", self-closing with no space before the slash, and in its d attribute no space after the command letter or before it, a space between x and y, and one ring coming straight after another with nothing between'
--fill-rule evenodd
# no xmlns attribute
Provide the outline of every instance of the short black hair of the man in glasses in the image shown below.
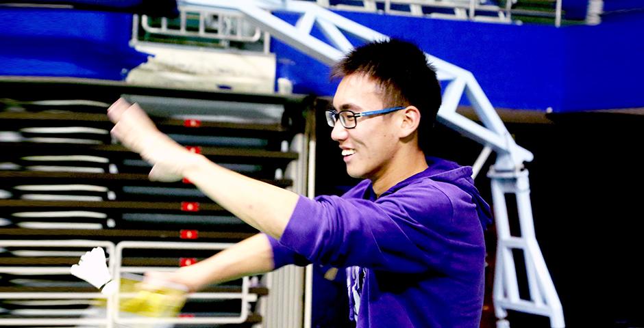
<svg viewBox="0 0 644 328"><path fill-rule="evenodd" d="M418 46L398 39L358 46L331 71L332 79L350 74L365 74L378 81L388 107L417 107L421 112L419 148L429 150L436 113L441 107L441 84Z"/></svg>

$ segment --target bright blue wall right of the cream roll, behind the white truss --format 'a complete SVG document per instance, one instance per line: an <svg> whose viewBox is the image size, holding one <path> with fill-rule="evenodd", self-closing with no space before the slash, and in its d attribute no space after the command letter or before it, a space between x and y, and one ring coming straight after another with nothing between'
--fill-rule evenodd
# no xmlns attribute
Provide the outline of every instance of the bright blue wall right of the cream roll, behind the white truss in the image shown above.
<svg viewBox="0 0 644 328"><path fill-rule="evenodd" d="M641 12L601 25L561 28L338 13L380 33L414 40L426 52L470 70L495 107L644 107L643 87L637 82L644 74ZM290 23L297 20L286 12L277 16ZM319 31L313 35L320 37ZM273 49L280 59L278 76L294 78L296 92L333 94L322 64L279 41L273 42Z"/></svg>

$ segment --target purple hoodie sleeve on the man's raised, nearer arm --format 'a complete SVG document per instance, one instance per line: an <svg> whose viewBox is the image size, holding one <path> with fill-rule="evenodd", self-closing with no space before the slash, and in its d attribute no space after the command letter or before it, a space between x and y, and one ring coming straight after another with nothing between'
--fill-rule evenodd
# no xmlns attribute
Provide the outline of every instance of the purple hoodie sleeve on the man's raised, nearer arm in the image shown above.
<svg viewBox="0 0 644 328"><path fill-rule="evenodd" d="M469 197L462 202L469 206L463 211L467 226L475 223L481 230L469 194L448 196L427 186L404 189L376 202L300 197L280 243L314 263L400 273L445 271L453 251L484 251L482 232L471 238L460 231L464 222L455 220L450 198Z"/></svg>

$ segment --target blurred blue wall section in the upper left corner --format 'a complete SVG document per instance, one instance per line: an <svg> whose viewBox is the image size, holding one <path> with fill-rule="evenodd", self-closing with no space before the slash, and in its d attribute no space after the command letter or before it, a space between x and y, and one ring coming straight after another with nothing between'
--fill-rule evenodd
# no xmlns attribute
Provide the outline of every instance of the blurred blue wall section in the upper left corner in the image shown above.
<svg viewBox="0 0 644 328"><path fill-rule="evenodd" d="M0 9L0 75L121 80L147 59L128 46L132 14Z"/></svg>

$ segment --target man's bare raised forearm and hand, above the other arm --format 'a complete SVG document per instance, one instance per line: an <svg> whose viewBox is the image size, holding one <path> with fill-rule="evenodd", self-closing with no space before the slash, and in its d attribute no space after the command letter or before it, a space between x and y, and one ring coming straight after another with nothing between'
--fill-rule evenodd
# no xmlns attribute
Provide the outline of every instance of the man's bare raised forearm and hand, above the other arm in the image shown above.
<svg viewBox="0 0 644 328"><path fill-rule="evenodd" d="M112 135L153 165L151 180L188 178L217 204L249 225L279 239L299 195L254 180L189 152L161 133L145 111L119 99L108 109Z"/></svg>

